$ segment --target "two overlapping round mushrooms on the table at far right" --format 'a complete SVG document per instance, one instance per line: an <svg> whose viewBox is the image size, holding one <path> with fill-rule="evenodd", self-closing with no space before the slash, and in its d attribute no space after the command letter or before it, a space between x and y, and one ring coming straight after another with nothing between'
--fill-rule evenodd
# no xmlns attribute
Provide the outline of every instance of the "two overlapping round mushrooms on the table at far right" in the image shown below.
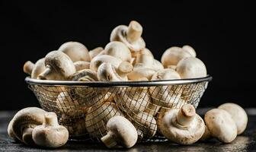
<svg viewBox="0 0 256 152"><path fill-rule="evenodd" d="M238 104L224 103L206 112L204 121L206 128L201 141L217 138L223 143L230 143L245 131L248 116Z"/></svg>

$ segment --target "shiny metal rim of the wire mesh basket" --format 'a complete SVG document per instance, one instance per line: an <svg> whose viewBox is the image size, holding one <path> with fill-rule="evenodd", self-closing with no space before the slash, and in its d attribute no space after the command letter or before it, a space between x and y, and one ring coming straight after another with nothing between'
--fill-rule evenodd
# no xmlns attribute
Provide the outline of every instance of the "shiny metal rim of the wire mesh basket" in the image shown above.
<svg viewBox="0 0 256 152"><path fill-rule="evenodd" d="M85 86L85 87L151 87L174 84L195 84L203 81L212 81L212 77L207 75L205 78L162 80L162 81L49 81L37 80L30 77L25 78L27 84L45 85L45 86Z"/></svg>

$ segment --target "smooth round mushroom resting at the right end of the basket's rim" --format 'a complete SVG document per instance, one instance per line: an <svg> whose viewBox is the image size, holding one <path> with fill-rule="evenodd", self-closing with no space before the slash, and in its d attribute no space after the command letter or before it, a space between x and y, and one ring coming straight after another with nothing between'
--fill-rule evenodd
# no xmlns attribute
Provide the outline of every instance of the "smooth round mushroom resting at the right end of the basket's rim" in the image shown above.
<svg viewBox="0 0 256 152"><path fill-rule="evenodd" d="M181 78L203 78L206 77L206 66L200 59L188 57L178 62L176 71Z"/></svg>

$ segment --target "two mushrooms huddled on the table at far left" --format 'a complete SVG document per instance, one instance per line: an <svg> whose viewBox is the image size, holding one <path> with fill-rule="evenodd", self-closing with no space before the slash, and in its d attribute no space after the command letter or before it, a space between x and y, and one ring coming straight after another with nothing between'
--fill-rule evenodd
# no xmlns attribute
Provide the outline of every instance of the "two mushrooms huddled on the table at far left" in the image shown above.
<svg viewBox="0 0 256 152"><path fill-rule="evenodd" d="M40 147L61 147L69 139L69 131L59 125L56 113L37 107L18 111L8 125L8 135L15 141Z"/></svg>

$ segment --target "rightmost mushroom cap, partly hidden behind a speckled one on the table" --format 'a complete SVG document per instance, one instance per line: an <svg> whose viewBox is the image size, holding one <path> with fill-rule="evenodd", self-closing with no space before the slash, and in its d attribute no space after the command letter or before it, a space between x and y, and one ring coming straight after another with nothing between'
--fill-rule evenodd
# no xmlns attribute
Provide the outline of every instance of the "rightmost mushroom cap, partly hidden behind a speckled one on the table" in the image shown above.
<svg viewBox="0 0 256 152"><path fill-rule="evenodd" d="M235 103L224 103L218 107L218 109L224 109L232 116L237 127L237 134L242 134L248 123L248 116L241 106Z"/></svg>

